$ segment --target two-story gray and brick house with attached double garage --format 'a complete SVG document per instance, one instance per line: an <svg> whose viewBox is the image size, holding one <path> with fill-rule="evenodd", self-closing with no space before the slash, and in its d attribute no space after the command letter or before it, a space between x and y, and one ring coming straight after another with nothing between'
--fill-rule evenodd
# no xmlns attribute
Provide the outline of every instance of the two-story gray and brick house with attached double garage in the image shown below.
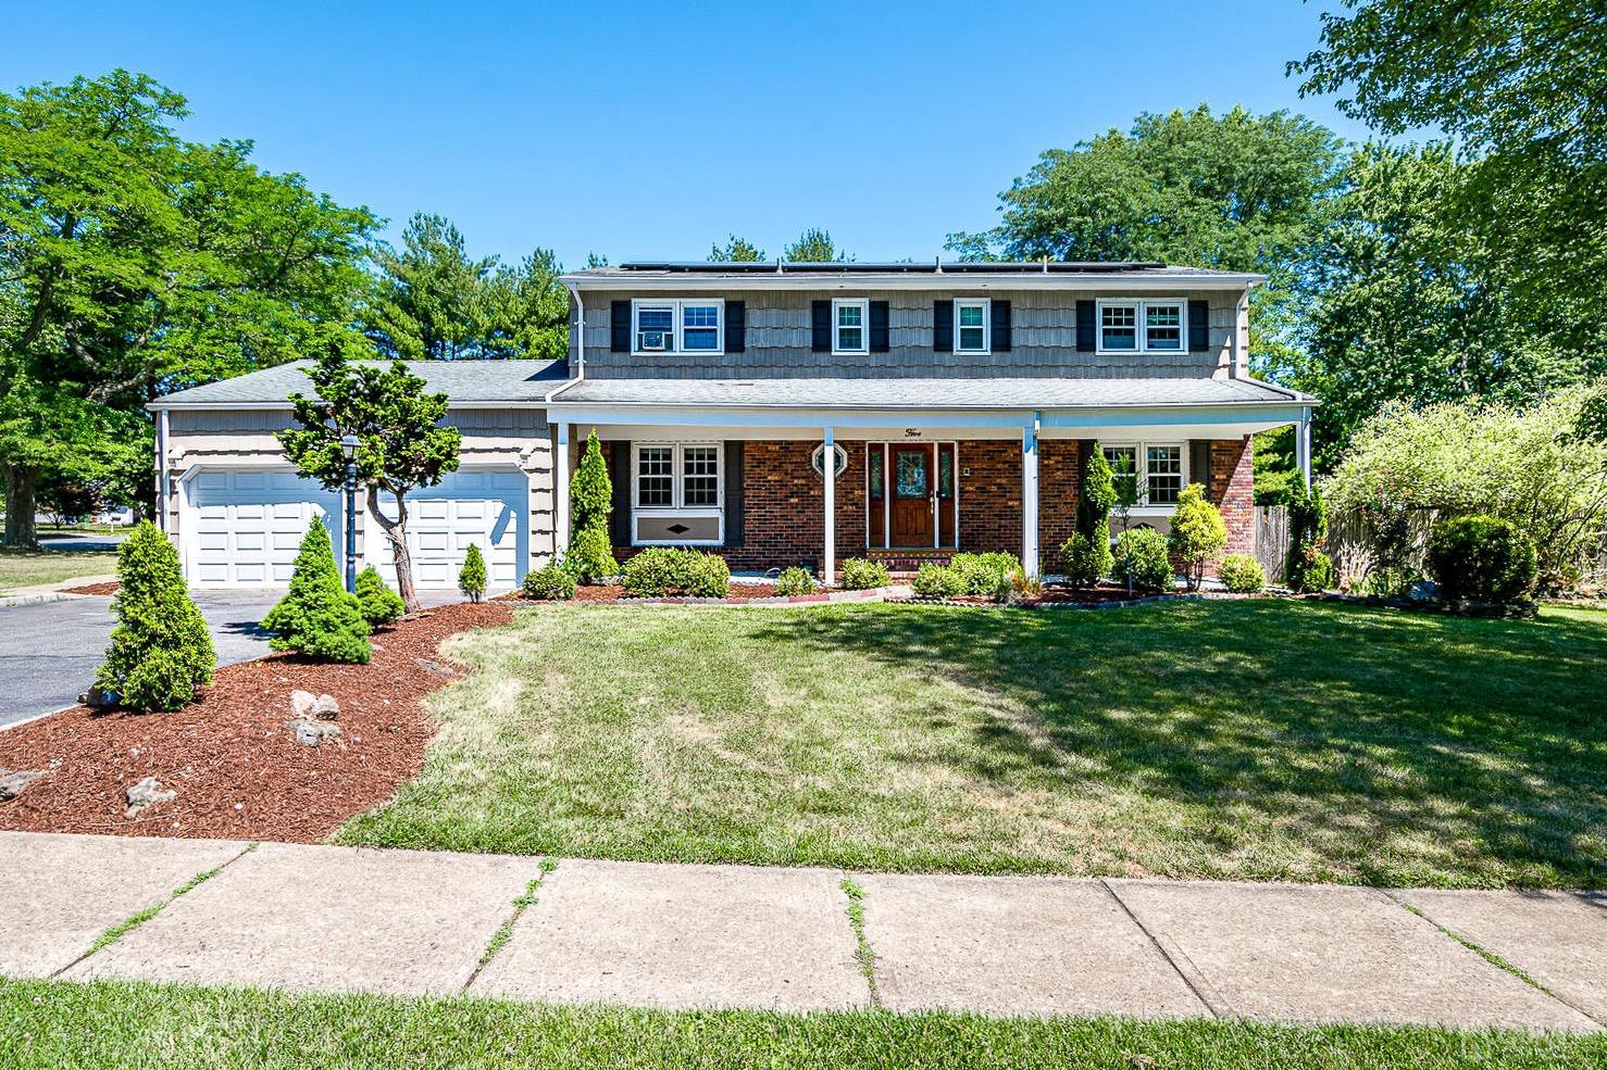
<svg viewBox="0 0 1607 1070"><path fill-rule="evenodd" d="M514 586L567 541L590 432L612 538L697 546L733 569L848 556L911 566L1008 549L1057 569L1093 443L1139 472L1133 524L1165 530L1204 484L1229 549L1253 540L1252 448L1315 398L1249 374L1257 275L1160 263L627 263L564 276L567 361L413 365L447 392L463 468L411 516L423 586L471 543ZM284 583L341 503L273 440L299 366L166 397L162 521L198 586ZM365 556L387 566L378 525Z"/></svg>

